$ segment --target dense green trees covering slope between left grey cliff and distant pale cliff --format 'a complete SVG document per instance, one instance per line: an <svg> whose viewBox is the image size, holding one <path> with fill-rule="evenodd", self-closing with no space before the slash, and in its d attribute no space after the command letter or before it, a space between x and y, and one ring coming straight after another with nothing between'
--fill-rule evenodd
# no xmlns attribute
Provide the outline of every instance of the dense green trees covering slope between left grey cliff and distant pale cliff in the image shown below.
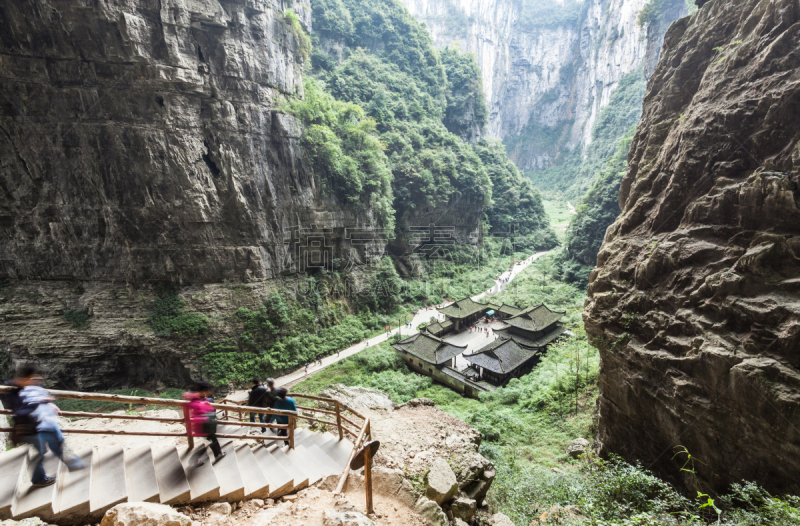
<svg viewBox="0 0 800 526"><path fill-rule="evenodd" d="M488 118L472 54L434 49L426 29L397 0L314 0L312 18L316 80L306 82L307 100L287 110L306 124L303 143L330 191L366 208L378 203L387 225L394 211L398 228L418 207L466 202L487 209L492 229L507 232L517 221L538 246L556 244L541 199L509 168L502 148L464 140L477 137ZM315 111L304 111L309 106ZM374 129L367 129L369 122ZM350 128L363 131L366 151L351 147L363 138L352 140ZM362 175L357 154L367 158L371 173ZM491 204L501 203L492 201L498 176L506 197L509 186L520 189L494 213ZM391 192L381 190L387 180Z"/></svg>

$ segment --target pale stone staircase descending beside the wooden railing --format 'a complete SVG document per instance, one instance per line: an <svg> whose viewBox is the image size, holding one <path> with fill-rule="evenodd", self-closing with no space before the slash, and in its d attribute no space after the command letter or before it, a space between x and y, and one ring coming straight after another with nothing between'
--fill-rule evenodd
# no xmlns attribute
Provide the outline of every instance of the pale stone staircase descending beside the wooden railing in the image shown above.
<svg viewBox="0 0 800 526"><path fill-rule="evenodd" d="M247 428L220 426L219 434L243 434ZM269 432L269 431L268 431ZM56 483L32 488L30 448L0 454L0 520L40 517L47 522L98 520L122 502L187 504L276 498L344 470L353 444L330 433L298 428L295 449L282 442L250 447L220 439L227 455L213 463L203 440L187 446L121 447L74 452L85 469L70 472L52 453L45 455L47 474ZM197 466L198 459L204 460Z"/></svg>

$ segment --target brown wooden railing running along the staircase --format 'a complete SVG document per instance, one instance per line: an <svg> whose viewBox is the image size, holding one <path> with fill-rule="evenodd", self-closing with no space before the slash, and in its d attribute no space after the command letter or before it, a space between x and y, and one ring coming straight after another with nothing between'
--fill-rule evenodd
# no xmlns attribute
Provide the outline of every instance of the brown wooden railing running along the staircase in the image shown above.
<svg viewBox="0 0 800 526"><path fill-rule="evenodd" d="M11 387L3 387L0 386L0 392L7 392L10 391ZM83 433L83 434L93 434L93 435L124 435L124 436L174 436L180 437L185 436L189 447L194 447L194 435L192 433L192 426L191 422L189 421L189 415L187 411L184 411L186 405L188 405L188 401L185 400L169 400L164 398L150 398L146 396L126 396L126 395L115 395L115 394L103 394L103 393L81 393L81 392L74 392L74 391L50 391L55 398L65 399L65 400L87 400L87 401L99 401L99 402L118 402L120 404L137 404L137 405L155 405L155 406L162 406L162 407L171 407L171 408L180 408L183 411L183 417L181 418L167 418L167 417L154 417L154 416L144 416L140 414L110 414L110 413L89 413L84 411L62 411L61 415L68 418L108 418L108 419L117 419L117 420L141 420L147 422L163 422L163 423L183 423L186 431L176 433L176 432L167 432L167 431L127 431L127 430L116 430L116 429L74 429L74 428L65 428L62 429L64 433ZM217 434L218 438L230 438L233 440L285 440L289 442L289 447L294 449L294 439L295 439L295 429L297 427L297 419L307 420L309 422L313 422L316 424L322 424L331 426L338 431L339 439L341 440L344 438L344 434L348 434L355 438L354 449L353 453L351 454L351 458L355 451L358 450L360 441L363 442L363 438L365 436L364 430L366 429L367 435L369 434L369 419L365 416L359 414L358 412L354 411L350 407L346 406L345 404L334 400L333 398L325 398L321 396L312 396L312 395L305 395L301 393L292 393L290 396L294 398L303 398L307 400L311 400L317 404L325 404L327 407L332 407L333 409L323 409L320 407L310 407L310 406L298 406L297 412L294 411L283 411L280 409L270 409L264 407L250 407L242 404L211 404L214 409L217 410L217 414L220 415L222 418L217 420L217 423L220 425L228 425L228 426L239 426L239 427L267 427L271 429L278 429L278 430L287 430L288 436L280 436L280 435L263 435L263 434L256 434L256 435L231 435L231 434ZM288 424L273 424L273 423L261 423L261 422L249 422L245 421L245 416L247 413L255 413L255 414L264 414L270 415L273 417L282 416L288 417ZM310 416L308 413L313 414L314 416ZM10 415L11 411L9 410L0 410L0 414L2 415ZM236 416L234 416L236 415ZM325 416L331 417L330 419L324 418ZM350 418L348 418L350 416ZM351 420L352 418L352 420ZM360 419L364 423L359 425L353 420ZM271 420L271 419L270 419ZM350 429L347 425L353 427ZM0 427L0 432L11 432L11 428ZM346 472L343 476L346 477Z"/></svg>

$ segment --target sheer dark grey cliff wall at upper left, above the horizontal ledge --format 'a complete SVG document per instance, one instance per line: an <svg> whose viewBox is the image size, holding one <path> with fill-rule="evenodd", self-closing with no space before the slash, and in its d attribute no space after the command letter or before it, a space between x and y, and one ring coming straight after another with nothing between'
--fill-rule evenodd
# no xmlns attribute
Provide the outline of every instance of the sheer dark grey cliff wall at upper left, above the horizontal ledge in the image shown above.
<svg viewBox="0 0 800 526"><path fill-rule="evenodd" d="M373 221L321 192L276 109L302 93L284 9L4 2L0 276L268 279L302 270L309 229L347 259L346 229ZM308 27L308 1L292 9Z"/></svg>

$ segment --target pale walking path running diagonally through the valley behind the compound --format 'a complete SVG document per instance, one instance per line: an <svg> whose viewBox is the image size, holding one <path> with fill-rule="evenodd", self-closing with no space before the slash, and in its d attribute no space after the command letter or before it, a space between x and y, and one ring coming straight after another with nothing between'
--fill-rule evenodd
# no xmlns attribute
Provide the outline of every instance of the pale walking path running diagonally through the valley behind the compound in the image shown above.
<svg viewBox="0 0 800 526"><path fill-rule="evenodd" d="M547 254L548 252L550 252L550 251L549 250L545 250L545 251L542 251L542 252L537 252L537 253L533 254L532 256L528 257L527 259L524 259L524 260L521 260L521 261L517 261L514 265L511 266L510 269L506 270L505 272L500 274L500 276L498 276L498 278L495 280L494 285L492 286L492 288L490 288L489 290L487 290L485 292L482 292L482 293L478 294L477 296L473 296L472 299L474 301L478 301L481 298L483 298L484 296L486 296L487 294L495 294L495 293L500 292L501 290L505 289L508 286L508 284L517 276L517 274L522 272L525 268L527 268L528 265L530 265L531 263L533 263L534 261L536 261L537 259L539 259L543 255ZM507 279L508 281L505 282L504 281L505 279ZM442 304L440 306L437 306L437 307L445 307L447 305L450 305L450 302L444 303L444 304ZM398 331L400 331L400 335L401 336L411 336L412 334L417 332L417 327L421 323L426 323L426 322L430 321L430 319L432 317L436 317L436 318L440 319L441 321L444 321L444 315L439 313L439 310L438 310L437 307L433 307L433 308L430 308L430 309L422 308L422 309L418 310L414 314L414 318L411 320L411 327L409 327L408 325L404 325L404 326L400 327L399 329L398 328L394 328L389 332L385 332L385 333L380 334L378 336L373 336L372 338L370 338L366 342L357 343L355 345L352 345L352 346L348 347L347 349L342 349L340 352L338 352L336 354L333 354L331 356L326 356L325 358L322 358L322 365L319 365L318 363L317 364L313 364L313 365L309 364L308 372L306 372L306 368L305 367L301 367L300 369L298 369L298 370L296 370L294 372L291 372L291 373L289 373L287 375L281 376L279 378L275 378L275 385L283 386L283 387L286 387L286 388L292 387L293 385L295 385L295 384L299 383L300 381L304 380L307 376L315 374L315 373L321 371L322 369L324 369L325 367L328 367L329 365L332 365L332 364L334 364L336 362L344 360L345 358L347 358L349 356L353 356L354 354L360 353L361 351L363 351L367 347L373 347L375 345L378 345L379 343L385 342L386 340L388 340L389 338L391 338L392 336L397 334ZM235 392L233 392L231 394L228 394L228 396L225 397L225 399L233 401L233 402L241 402L241 401L247 400L247 393L248 393L248 391L246 391L246 390L235 391Z"/></svg>

